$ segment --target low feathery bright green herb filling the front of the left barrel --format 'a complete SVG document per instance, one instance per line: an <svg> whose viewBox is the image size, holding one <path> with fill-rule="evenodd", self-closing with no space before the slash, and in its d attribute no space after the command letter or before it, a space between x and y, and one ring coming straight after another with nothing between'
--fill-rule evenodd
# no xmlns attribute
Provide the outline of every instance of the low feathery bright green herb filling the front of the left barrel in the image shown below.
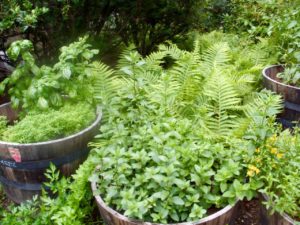
<svg viewBox="0 0 300 225"><path fill-rule="evenodd" d="M34 143L66 137L90 125L95 115L95 109L84 103L66 104L58 110L32 110L2 132L2 140Z"/></svg>

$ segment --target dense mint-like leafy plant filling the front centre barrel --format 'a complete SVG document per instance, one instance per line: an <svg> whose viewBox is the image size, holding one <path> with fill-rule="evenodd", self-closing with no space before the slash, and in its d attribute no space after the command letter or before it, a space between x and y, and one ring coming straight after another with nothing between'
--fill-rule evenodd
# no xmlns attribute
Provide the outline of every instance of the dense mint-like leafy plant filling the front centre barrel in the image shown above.
<svg viewBox="0 0 300 225"><path fill-rule="evenodd" d="M107 141L97 146L102 160L90 180L124 215L159 223L193 221L210 207L253 197L257 187L243 183L241 149L207 141L187 119L147 115L130 127L122 120L115 131L102 129L99 137ZM106 139L107 132L118 133Z"/></svg>

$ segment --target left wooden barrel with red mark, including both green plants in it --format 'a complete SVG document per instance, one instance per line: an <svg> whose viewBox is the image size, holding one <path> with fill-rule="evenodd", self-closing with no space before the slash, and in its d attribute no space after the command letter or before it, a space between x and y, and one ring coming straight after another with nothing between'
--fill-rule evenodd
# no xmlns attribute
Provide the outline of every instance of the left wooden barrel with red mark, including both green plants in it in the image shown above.
<svg viewBox="0 0 300 225"><path fill-rule="evenodd" d="M98 132L101 112L93 98L87 37L61 48L59 62L39 67L30 41L14 42L8 54L22 62L1 83L11 103L0 106L0 181L5 193L20 203L39 194L51 163L72 174L85 160L87 143Z"/></svg>

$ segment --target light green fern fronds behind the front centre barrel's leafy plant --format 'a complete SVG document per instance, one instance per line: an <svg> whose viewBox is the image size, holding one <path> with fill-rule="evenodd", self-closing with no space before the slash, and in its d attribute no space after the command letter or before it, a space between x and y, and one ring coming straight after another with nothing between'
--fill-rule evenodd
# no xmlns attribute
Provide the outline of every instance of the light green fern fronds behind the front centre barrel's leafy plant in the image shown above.
<svg viewBox="0 0 300 225"><path fill-rule="evenodd" d="M116 72L124 82L121 92L131 95L139 91L141 98L165 115L194 119L212 138L241 133L238 130L244 130L251 117L244 110L244 102L256 101L251 93L260 62L242 66L239 59L233 58L237 55L234 41L235 36L213 33L196 39L191 52L170 43L159 46L146 58L126 50ZM245 51L243 59L247 58ZM254 53L249 50L250 61ZM166 67L168 58L173 63Z"/></svg>

